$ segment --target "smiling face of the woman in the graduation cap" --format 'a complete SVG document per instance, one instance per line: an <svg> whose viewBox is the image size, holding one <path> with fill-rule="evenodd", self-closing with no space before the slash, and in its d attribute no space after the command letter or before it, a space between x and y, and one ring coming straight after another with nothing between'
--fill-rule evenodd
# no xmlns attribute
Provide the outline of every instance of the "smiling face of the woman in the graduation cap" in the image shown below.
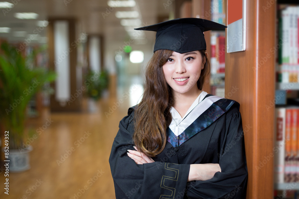
<svg viewBox="0 0 299 199"><path fill-rule="evenodd" d="M166 82L173 94L198 93L197 81L204 65L205 58L199 51L183 54L173 52L163 65Z"/></svg>

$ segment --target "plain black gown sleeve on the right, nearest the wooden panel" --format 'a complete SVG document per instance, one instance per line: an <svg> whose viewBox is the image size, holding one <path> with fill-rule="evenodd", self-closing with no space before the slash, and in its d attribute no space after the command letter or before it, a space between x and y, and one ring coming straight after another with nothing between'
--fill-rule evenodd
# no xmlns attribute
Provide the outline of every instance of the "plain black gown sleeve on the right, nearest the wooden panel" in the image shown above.
<svg viewBox="0 0 299 199"><path fill-rule="evenodd" d="M248 171L241 115L237 110L226 117L223 125L225 135L219 154L221 172L216 172L207 181L189 182L185 198L245 198Z"/></svg>

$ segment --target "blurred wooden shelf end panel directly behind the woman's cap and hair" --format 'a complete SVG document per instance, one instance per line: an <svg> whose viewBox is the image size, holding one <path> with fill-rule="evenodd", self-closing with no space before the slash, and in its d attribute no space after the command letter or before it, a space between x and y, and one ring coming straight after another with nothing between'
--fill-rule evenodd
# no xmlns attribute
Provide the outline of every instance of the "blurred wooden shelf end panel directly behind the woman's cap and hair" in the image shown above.
<svg viewBox="0 0 299 199"><path fill-rule="evenodd" d="M204 0L192 0L192 17L199 17L207 20L211 20L211 14L209 11L211 10L211 1ZM211 31L204 32L205 41L207 43L207 53L209 54L208 58L211 55ZM204 87L202 88L207 93L211 92L210 87L210 74L205 79Z"/></svg>

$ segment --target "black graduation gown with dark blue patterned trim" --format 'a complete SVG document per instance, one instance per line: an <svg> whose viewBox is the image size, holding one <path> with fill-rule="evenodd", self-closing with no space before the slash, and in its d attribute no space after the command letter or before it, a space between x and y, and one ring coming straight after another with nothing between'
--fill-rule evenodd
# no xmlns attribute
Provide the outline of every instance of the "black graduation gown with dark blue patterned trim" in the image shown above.
<svg viewBox="0 0 299 199"><path fill-rule="evenodd" d="M168 128L164 151L141 165L127 155L127 149L135 150L133 118L134 107L119 123L109 158L117 199L245 198L248 172L236 101L214 102L178 137ZM190 164L199 163L219 163L221 172L187 183Z"/></svg>

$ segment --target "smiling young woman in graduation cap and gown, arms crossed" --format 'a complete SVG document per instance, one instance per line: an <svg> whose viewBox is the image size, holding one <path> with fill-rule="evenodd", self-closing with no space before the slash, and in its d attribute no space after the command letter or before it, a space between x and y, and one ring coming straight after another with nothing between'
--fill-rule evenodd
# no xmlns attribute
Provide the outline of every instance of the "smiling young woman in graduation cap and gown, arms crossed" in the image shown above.
<svg viewBox="0 0 299 199"><path fill-rule="evenodd" d="M157 31L141 102L119 124L109 158L116 198L245 198L247 166L239 104L202 91L210 72L199 18Z"/></svg>

